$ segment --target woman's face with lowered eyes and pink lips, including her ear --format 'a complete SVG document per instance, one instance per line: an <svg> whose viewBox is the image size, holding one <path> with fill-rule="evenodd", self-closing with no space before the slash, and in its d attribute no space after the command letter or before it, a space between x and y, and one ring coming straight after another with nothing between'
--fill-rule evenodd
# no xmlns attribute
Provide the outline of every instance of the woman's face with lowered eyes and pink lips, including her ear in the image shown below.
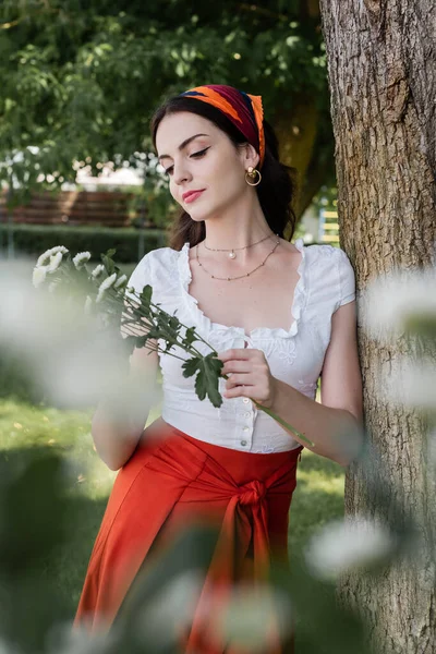
<svg viewBox="0 0 436 654"><path fill-rule="evenodd" d="M258 161L253 146L235 148L214 123L189 111L161 120L156 149L169 175L172 197L193 220L220 216L247 193L245 171ZM198 193L186 195L192 191Z"/></svg>

